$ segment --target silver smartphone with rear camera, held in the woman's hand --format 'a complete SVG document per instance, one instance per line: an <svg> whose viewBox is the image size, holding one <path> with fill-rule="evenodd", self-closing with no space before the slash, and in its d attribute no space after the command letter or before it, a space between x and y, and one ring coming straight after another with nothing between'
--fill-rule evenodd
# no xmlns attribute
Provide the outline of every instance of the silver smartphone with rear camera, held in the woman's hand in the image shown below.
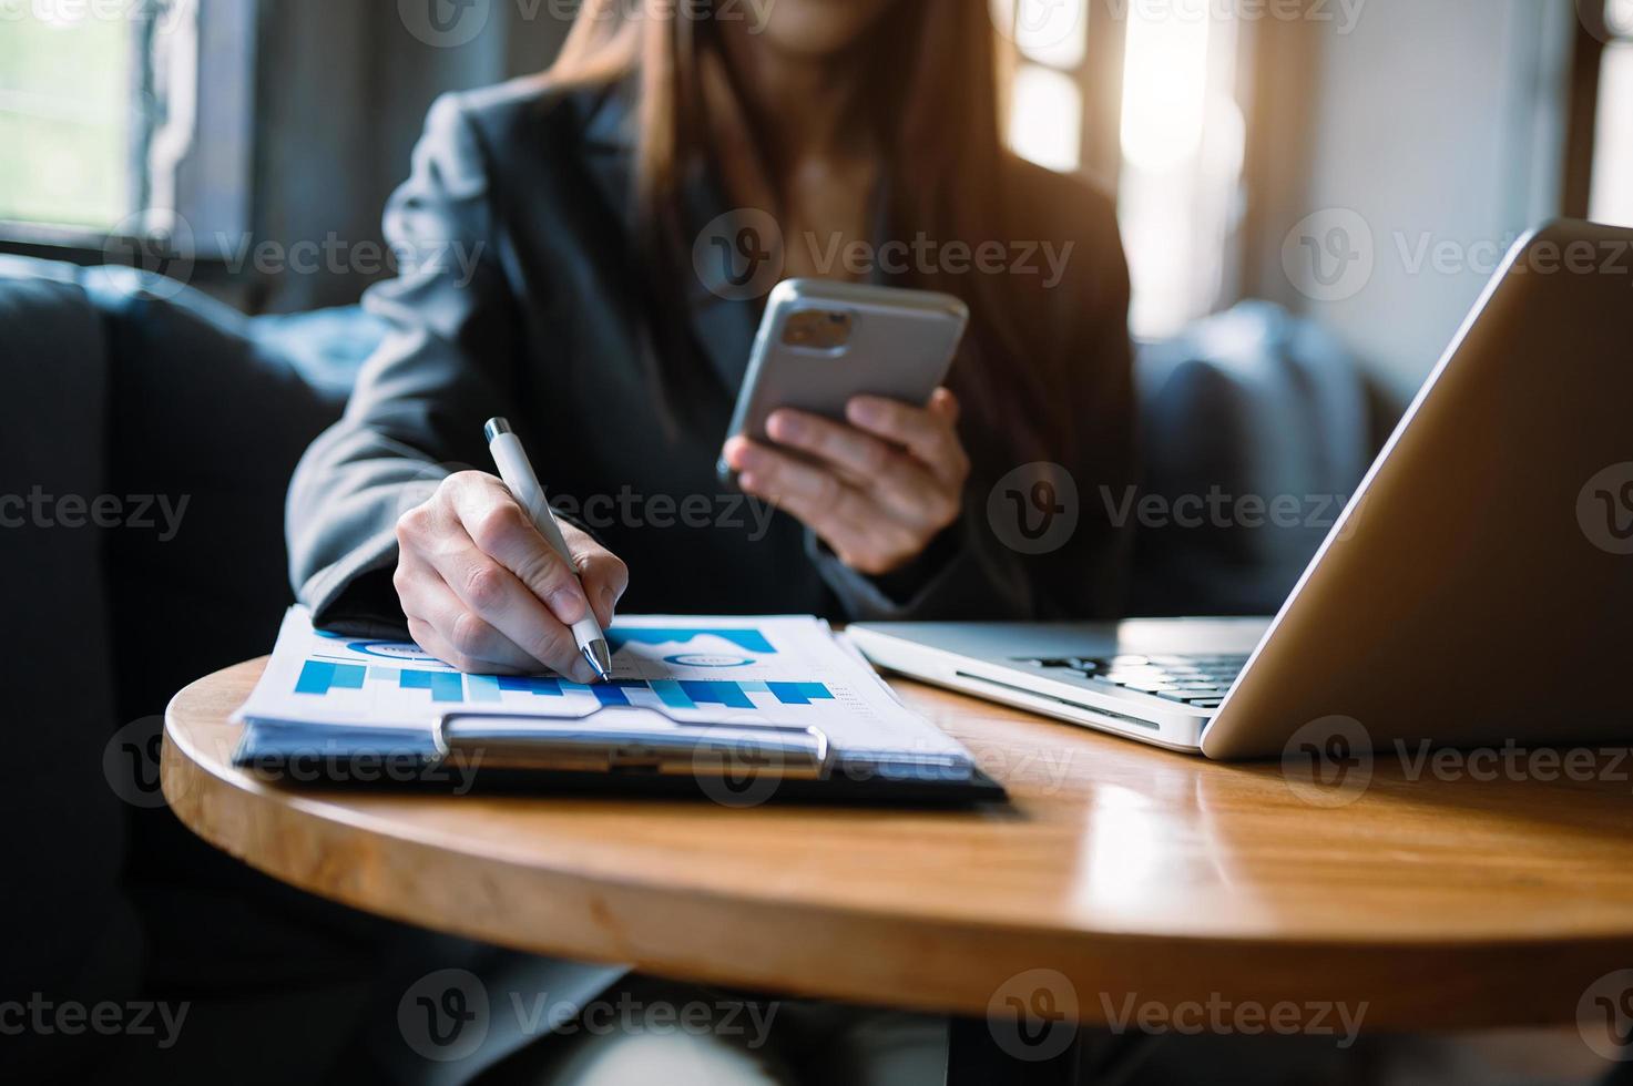
<svg viewBox="0 0 1633 1086"><path fill-rule="evenodd" d="M787 279L766 302L727 439L774 444L766 420L784 407L836 421L857 395L923 407L968 323L970 310L950 294ZM736 485L725 459L719 472L723 485Z"/></svg>

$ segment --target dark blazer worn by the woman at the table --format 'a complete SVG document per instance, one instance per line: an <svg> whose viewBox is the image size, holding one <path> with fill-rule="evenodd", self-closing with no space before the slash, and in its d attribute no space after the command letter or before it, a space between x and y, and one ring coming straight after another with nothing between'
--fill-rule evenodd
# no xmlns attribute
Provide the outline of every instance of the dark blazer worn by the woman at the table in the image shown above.
<svg viewBox="0 0 1633 1086"><path fill-rule="evenodd" d="M694 392L691 421L666 426L640 361L655 348L635 286L632 157L632 109L617 90L519 80L433 106L413 173L385 212L400 274L364 299L392 332L289 492L291 575L318 624L402 629L394 524L446 474L493 470L482 438L493 415L513 420L552 501L629 562L627 612L1115 612L1125 532L1110 524L1099 488L1122 495L1132 482L1133 398L1128 278L1104 196L1012 165L1014 191L1053 230L1035 237L1073 245L1050 304L1081 359L1073 387L1058 390L1086 436L1076 462L1061 465L1078 488L1076 529L1047 554L1024 554L1032 542L1004 526L1024 498L993 493L1019 464L990 452L1004 434L967 421L975 472L962 523L908 576L875 581L792 518L715 480L761 304L719 297L691 268L661 289L684 294L697 356L661 363L697 364L712 381ZM699 224L727 209L704 181L687 203Z"/></svg>

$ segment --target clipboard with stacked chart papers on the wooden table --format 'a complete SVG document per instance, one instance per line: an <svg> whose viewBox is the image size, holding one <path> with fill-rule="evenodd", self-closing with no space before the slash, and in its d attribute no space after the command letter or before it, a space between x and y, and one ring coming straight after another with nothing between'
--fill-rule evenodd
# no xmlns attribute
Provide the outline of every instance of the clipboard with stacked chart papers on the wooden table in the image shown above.
<svg viewBox="0 0 1633 1086"><path fill-rule="evenodd" d="M583 686L465 674L412 642L317 630L291 608L234 714L234 764L271 784L456 794L492 784L736 802L746 784L818 802L1004 799L820 619L642 616L609 637L616 678Z"/></svg>

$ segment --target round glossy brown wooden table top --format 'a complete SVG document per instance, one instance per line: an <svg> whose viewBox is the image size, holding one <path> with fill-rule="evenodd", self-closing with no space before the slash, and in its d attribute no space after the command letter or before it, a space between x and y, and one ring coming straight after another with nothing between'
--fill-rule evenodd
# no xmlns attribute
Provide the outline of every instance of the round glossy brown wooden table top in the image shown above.
<svg viewBox="0 0 1633 1086"><path fill-rule="evenodd" d="M897 683L1011 805L314 790L229 764L227 717L261 665L171 702L176 815L289 883L500 946L965 1014L1052 970L1084 1022L1128 996L1213 998L1365 1003L1382 1029L1564 1024L1595 980L1633 967L1633 759L1594 781L1414 781L1380 756L1370 786L1328 808L1280 764L1213 764Z"/></svg>

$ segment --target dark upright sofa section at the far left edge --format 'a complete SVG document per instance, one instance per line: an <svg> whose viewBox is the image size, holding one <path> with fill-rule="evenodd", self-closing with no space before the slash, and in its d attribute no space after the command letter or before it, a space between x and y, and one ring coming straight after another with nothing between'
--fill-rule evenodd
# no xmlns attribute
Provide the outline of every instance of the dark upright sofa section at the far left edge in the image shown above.
<svg viewBox="0 0 1633 1086"><path fill-rule="evenodd" d="M118 720L108 621L111 382L101 322L72 281L0 258L0 570L8 828L0 991L121 998L142 942L121 887L126 805L103 771ZM118 751L113 754L118 758ZM8 1039L7 1073L60 1068L72 1039Z"/></svg>

